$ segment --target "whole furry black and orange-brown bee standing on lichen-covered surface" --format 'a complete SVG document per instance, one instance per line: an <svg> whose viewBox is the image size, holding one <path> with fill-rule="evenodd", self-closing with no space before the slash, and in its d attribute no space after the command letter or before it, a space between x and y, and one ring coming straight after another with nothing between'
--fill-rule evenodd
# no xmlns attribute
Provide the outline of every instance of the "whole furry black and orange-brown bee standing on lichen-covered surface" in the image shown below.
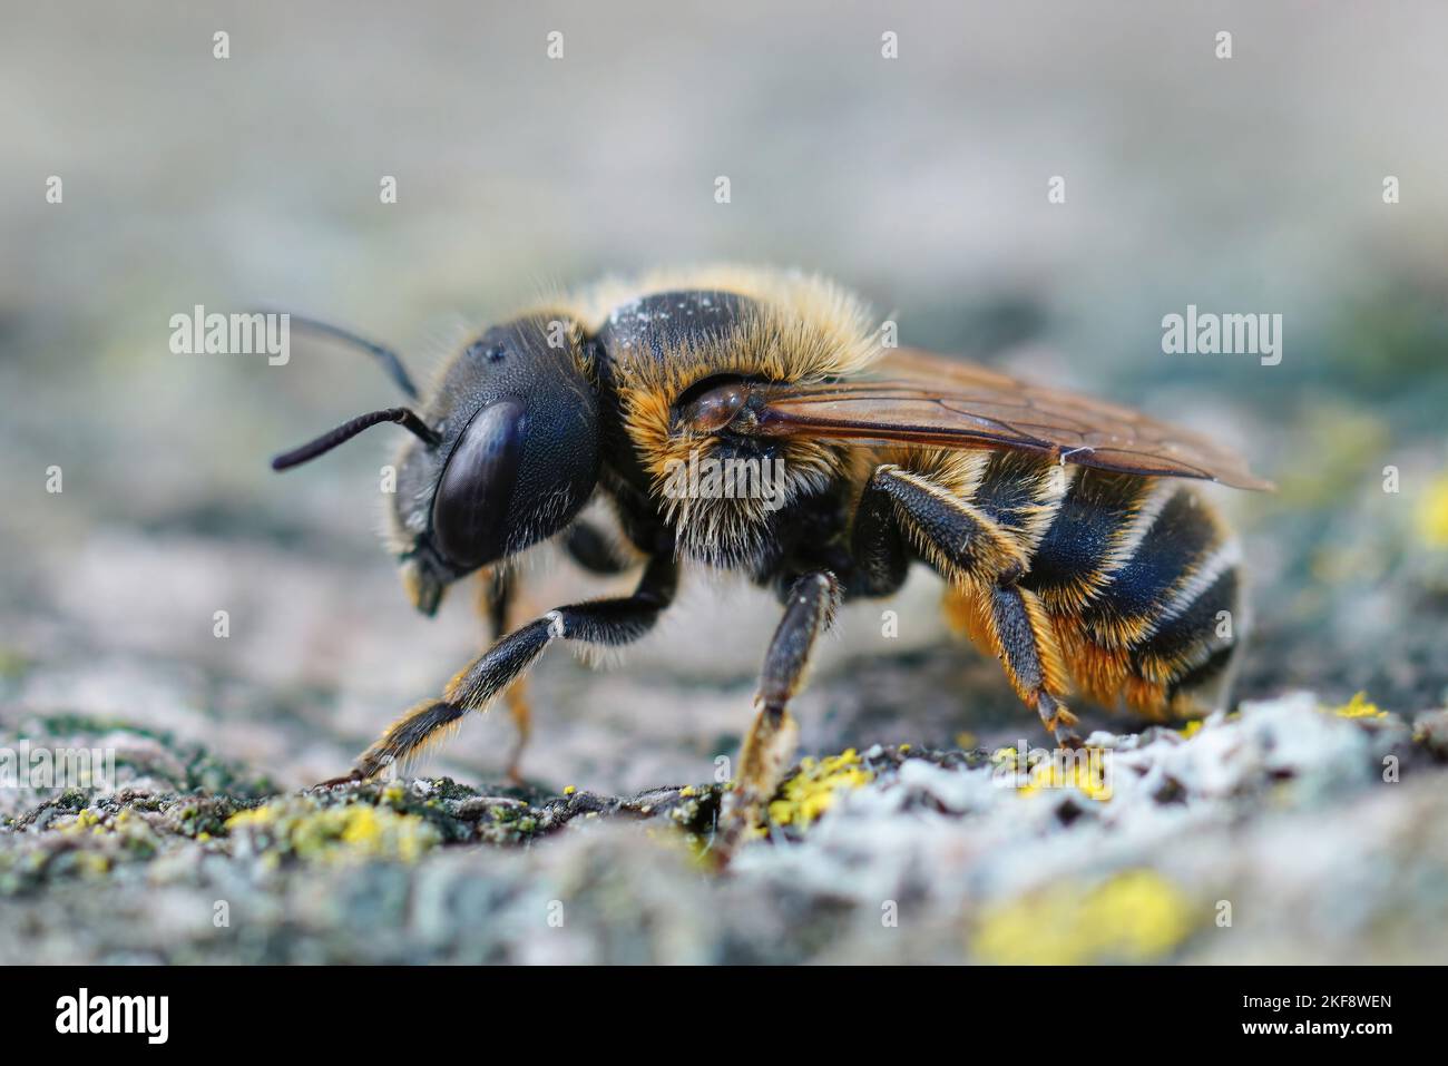
<svg viewBox="0 0 1448 1066"><path fill-rule="evenodd" d="M403 584L433 614L481 572L495 634L339 782L518 692L553 643L639 640L688 566L740 572L782 604L724 798L725 852L794 757L789 702L838 605L893 594L917 562L1060 743L1079 743L1073 692L1158 721L1226 698L1241 549L1190 482L1268 482L1134 410L885 348L864 306L825 280L710 268L604 282L472 336L423 397L390 349L330 332L376 355L416 410L352 419L274 468L369 426L408 430L387 533ZM579 519L595 497L621 545ZM633 594L508 629L511 563L544 540L589 571L637 569ZM529 717L521 698L513 708L515 768Z"/></svg>

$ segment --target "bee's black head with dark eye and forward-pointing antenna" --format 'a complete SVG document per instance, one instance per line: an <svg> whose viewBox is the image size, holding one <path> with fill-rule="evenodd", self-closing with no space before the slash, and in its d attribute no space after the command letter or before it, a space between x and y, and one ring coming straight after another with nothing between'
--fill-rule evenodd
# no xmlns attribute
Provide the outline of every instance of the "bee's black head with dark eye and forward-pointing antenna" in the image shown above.
<svg viewBox="0 0 1448 1066"><path fill-rule="evenodd" d="M598 394L582 336L563 314L515 319L471 340L421 416L362 416L272 465L306 462L379 421L417 437L397 461L388 546L424 614L458 578L563 529L598 479Z"/></svg>

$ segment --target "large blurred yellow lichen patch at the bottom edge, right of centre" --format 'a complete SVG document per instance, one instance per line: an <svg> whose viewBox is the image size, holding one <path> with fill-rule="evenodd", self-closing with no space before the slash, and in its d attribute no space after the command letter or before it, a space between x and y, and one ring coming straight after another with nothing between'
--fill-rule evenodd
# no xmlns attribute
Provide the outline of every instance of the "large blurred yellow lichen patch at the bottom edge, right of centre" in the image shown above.
<svg viewBox="0 0 1448 1066"><path fill-rule="evenodd" d="M1180 946L1193 924L1192 904L1176 885L1137 869L990 907L972 947L983 962L1009 965L1150 962Z"/></svg>

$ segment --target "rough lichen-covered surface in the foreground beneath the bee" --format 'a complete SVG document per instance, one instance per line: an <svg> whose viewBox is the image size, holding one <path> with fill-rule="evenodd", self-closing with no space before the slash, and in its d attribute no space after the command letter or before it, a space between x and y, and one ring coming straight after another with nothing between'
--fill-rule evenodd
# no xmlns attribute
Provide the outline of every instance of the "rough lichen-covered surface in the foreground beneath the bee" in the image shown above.
<svg viewBox="0 0 1448 1066"><path fill-rule="evenodd" d="M875 746L711 862L718 786L275 792L123 727L0 828L0 962L1436 962L1448 714L1306 694L1086 757ZM13 747L19 737L10 734ZM1054 759L1054 760L1053 760Z"/></svg>

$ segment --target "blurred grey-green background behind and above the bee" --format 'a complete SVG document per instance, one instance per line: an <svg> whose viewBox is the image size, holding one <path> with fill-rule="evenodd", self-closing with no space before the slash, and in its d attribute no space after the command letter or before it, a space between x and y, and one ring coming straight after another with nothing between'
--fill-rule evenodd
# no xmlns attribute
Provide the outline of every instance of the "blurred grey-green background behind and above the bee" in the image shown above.
<svg viewBox="0 0 1448 1066"><path fill-rule="evenodd" d="M376 368L301 336L287 366L174 355L172 314L310 313L426 374L543 287L712 259L828 274L904 343L1225 435L1280 485L1215 494L1257 582L1241 694L1442 705L1441 4L132 0L6 22L10 721L142 723L300 786L482 643L465 597L416 616L375 542L385 430L268 469L390 404ZM1164 355L1161 319L1187 304L1281 314L1280 365ZM534 610L602 588L547 562ZM901 610L896 642L877 608L844 620L801 702L808 749L1031 727L995 663L943 634L927 576ZM707 779L773 620L695 578L626 669L550 656L524 769ZM469 721L432 765L497 776L510 739L502 715Z"/></svg>

